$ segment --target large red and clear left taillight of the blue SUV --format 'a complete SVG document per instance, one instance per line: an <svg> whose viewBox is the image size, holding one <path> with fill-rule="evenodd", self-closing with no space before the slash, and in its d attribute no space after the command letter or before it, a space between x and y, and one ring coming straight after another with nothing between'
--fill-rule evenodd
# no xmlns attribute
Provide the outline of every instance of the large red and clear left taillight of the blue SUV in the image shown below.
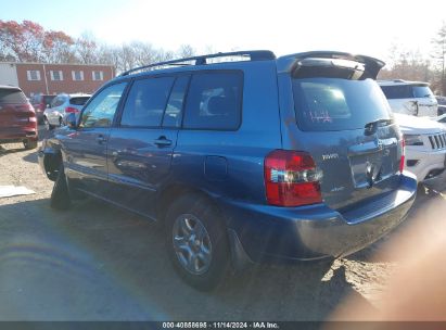
<svg viewBox="0 0 446 330"><path fill-rule="evenodd" d="M308 153L275 150L266 156L264 170L268 204L301 206L322 201L322 175Z"/></svg>

